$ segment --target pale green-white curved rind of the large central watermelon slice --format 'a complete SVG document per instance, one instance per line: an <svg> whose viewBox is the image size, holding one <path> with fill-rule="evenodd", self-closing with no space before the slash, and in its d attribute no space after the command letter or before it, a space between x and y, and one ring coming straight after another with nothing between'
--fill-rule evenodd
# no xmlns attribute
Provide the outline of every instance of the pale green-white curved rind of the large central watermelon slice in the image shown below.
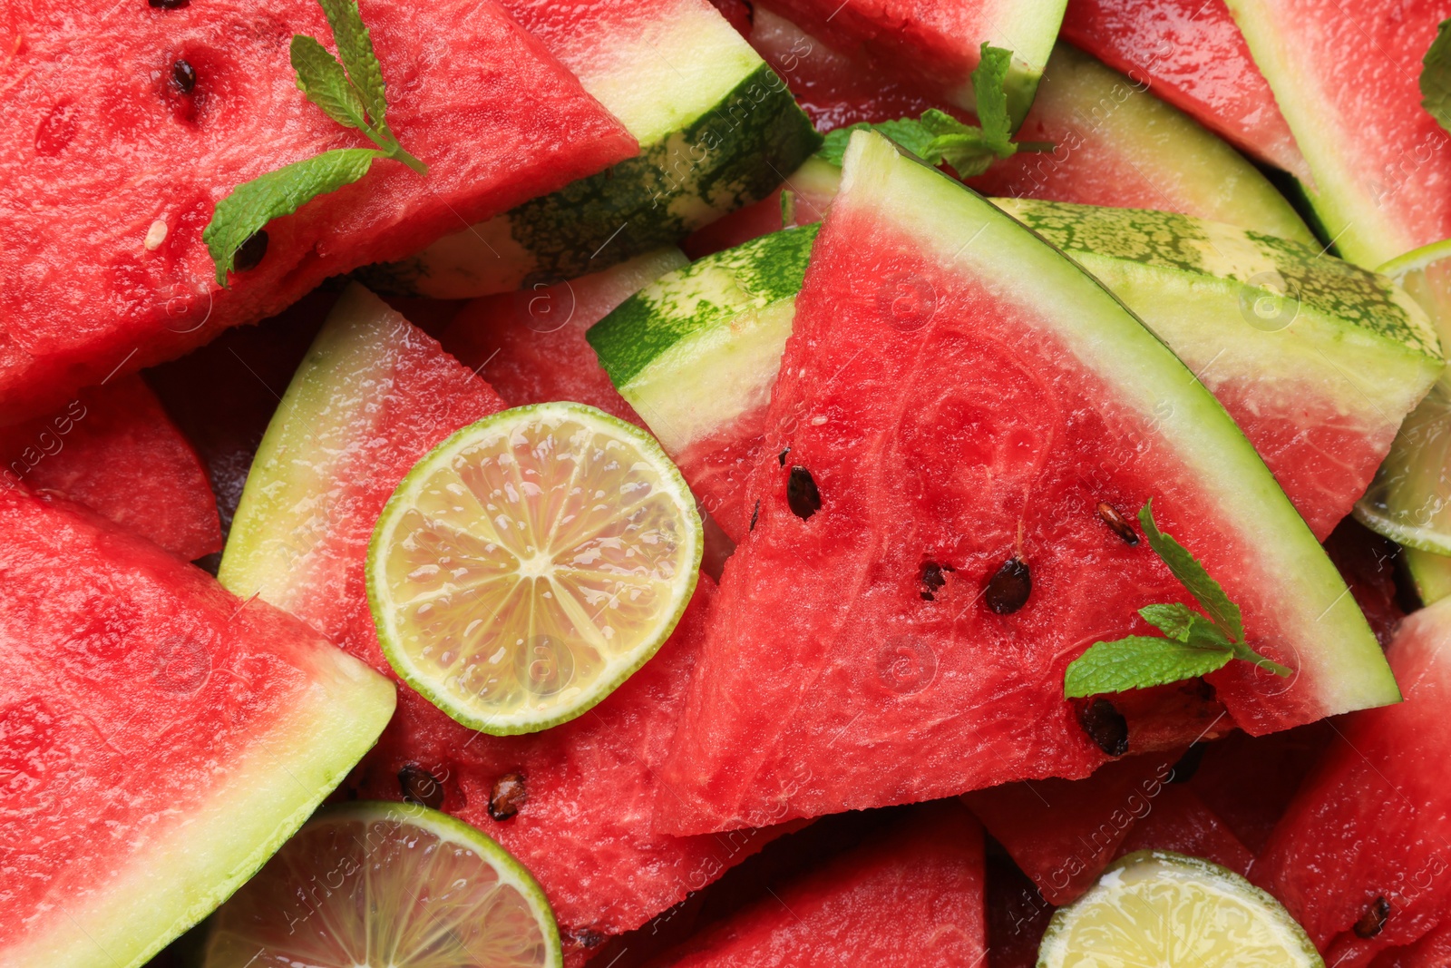
<svg viewBox="0 0 1451 968"><path fill-rule="evenodd" d="M1396 702L1400 694L1365 618L1264 462L1194 374L1101 284L991 202L917 164L875 132L852 135L843 197L881 210L924 255L979 280L1053 328L1080 364L1172 448L1277 595L1277 623L1310 676L1320 714ZM858 183L866 183L853 190ZM946 190L950 189L950 190ZM1023 267L1032 266L1032 284Z"/></svg>

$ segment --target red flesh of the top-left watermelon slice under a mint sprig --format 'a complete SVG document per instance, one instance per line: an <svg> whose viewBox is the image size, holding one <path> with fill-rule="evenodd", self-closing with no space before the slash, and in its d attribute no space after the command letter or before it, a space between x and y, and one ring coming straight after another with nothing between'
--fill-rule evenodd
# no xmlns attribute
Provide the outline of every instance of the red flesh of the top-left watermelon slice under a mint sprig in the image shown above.
<svg viewBox="0 0 1451 968"><path fill-rule="evenodd" d="M331 41L322 9L22 0L0 12L7 418L61 406L118 367L178 356L328 276L409 255L637 149L498 3L361 10L389 81L387 120L429 173L380 161L276 219L261 263L231 289L200 238L216 202L292 161L370 144L297 91L287 45L295 33ZM178 58L196 73L190 94L171 80ZM158 221L165 238L148 250Z"/></svg>

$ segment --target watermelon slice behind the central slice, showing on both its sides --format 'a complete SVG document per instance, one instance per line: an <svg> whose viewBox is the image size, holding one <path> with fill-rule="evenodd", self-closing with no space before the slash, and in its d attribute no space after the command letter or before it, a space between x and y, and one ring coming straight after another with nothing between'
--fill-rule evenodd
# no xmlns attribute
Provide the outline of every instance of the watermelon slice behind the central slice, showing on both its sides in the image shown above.
<svg viewBox="0 0 1451 968"><path fill-rule="evenodd" d="M1162 212L998 205L1170 344L1318 537L1351 511L1442 366L1429 321L1405 292L1318 250ZM589 334L621 393L737 541L814 234L779 232L704 258Z"/></svg>

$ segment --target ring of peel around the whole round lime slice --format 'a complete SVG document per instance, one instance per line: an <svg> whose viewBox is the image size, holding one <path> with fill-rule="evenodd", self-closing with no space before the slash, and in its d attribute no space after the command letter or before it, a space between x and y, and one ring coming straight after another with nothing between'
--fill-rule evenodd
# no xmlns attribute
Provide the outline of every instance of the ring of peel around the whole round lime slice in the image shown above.
<svg viewBox="0 0 1451 968"><path fill-rule="evenodd" d="M650 643L640 647L636 655L631 656L630 662L621 663L615 675L596 679L589 691L583 692L567 710L562 713L547 717L521 717L521 720L499 724L493 718L479 717L474 715L473 711L463 708L447 694L445 689L440 688L431 676L422 675L414 668L406 652L399 646L398 636L393 633L393 624L390 621L392 615L386 596L380 591L382 569L377 567L377 562L383 553L383 541L390 534L395 518L408 506L408 496L432 470L432 466L437 462L447 460L454 451L472 443L482 431L492 430L495 425L514 424L533 414L550 414L557 411L563 411L575 419L591 419L602 424L605 428L628 438L638 450L651 456L654 459L654 466L665 472L665 479L675 486L676 498L679 499L681 506L686 509L685 520L688 522L694 521L695 527L688 528L688 531L695 547L689 553L689 570L686 581L676 586L676 598L669 608L669 614L659 623L656 634ZM624 685L630 676L638 672L646 662L654 657L654 653L660 650L675 631L675 627L681 623L681 618L685 615L685 610L691 604L691 596L695 594L695 585L699 581L701 559L704 553L705 536L701 518L695 509L695 498L691 495L691 488L685 483L685 477L681 476L675 463L653 437L641 431L634 424L627 424L617 417L611 417L609 414L585 403L530 403L527 406L515 406L512 409L499 411L498 414L490 414L480 421L460 428L441 444L428 451L428 454L425 454L416 464L414 464L414 469L408 472L403 480L393 491L393 496L389 498L387 504L383 506L383 512L379 515L377 524L373 528L373 537L369 540L367 602L369 610L373 612L373 624L377 627L377 640L383 649L383 656L387 659L389 666L393 668L393 672L408 682L408 685L411 685L419 695L432 702L454 721L480 733L489 733L490 736L538 733L540 730L579 718L589 710L595 708L609 698L615 689Z"/></svg>

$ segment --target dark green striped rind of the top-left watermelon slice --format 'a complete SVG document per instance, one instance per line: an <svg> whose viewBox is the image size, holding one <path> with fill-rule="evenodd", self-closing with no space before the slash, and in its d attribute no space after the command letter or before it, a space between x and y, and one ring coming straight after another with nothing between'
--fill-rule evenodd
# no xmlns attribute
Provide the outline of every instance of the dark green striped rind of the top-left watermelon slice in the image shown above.
<svg viewBox="0 0 1451 968"><path fill-rule="evenodd" d="M692 106L663 135L659 118L636 120L637 157L444 238L409 260L369 267L360 279L380 292L444 299L550 284L673 245L770 194L785 173L815 152L821 135L785 81L724 17L707 13L707 20L688 29L698 41L689 55L708 60L691 67L698 73L714 64L715 73L734 74L734 86L718 102ZM701 12L683 16L701 17ZM625 60L615 70L630 68ZM608 80L618 86L622 78ZM593 87L611 107L608 91ZM667 99L689 96L689 90L666 90L660 107L670 106Z"/></svg>

